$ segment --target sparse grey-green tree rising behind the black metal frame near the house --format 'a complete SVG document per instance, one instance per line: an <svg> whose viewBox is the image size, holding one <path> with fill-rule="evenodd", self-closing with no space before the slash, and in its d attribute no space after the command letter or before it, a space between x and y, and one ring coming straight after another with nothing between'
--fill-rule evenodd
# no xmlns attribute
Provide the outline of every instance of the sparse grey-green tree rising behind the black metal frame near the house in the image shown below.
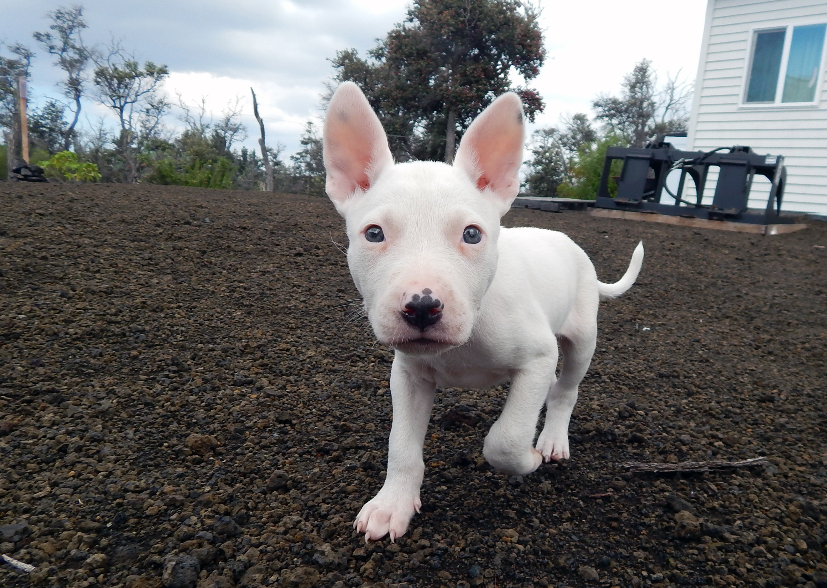
<svg viewBox="0 0 827 588"><path fill-rule="evenodd" d="M632 147L643 147L653 135L686 130L689 120L686 106L691 85L667 76L667 84L657 92L657 74L648 59L634 66L624 77L619 97L601 94L592 102L595 119L603 121L605 130L626 140Z"/></svg>

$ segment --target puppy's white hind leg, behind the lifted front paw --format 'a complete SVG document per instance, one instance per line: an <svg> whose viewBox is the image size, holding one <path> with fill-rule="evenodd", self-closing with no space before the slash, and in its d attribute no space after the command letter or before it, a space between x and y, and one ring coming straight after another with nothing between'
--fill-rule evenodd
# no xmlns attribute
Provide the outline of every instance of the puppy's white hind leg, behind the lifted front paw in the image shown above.
<svg viewBox="0 0 827 588"><path fill-rule="evenodd" d="M577 402L577 386L591 363L597 342L597 325L575 336L560 337L563 365L560 378L548 390L546 424L537 439L537 450L543 459L555 461L569 458L568 424Z"/></svg>

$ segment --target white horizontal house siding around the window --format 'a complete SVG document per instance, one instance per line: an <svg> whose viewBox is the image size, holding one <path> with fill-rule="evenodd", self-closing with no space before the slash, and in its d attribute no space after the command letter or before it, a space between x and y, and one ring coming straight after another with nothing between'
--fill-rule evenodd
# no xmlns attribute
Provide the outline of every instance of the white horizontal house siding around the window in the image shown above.
<svg viewBox="0 0 827 588"><path fill-rule="evenodd" d="M827 76L821 76L817 107L739 107L750 32L827 22L827 2L708 0L706 11L688 143L701 150L749 145L759 154L784 155L783 210L827 215ZM705 202L714 192L711 176ZM768 186L756 178L750 207L766 206Z"/></svg>

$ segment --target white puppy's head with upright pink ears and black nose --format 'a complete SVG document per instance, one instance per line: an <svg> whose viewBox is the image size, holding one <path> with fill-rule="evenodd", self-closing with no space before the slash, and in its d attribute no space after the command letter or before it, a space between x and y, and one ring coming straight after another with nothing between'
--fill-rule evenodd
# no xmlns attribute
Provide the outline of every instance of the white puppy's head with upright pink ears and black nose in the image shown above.
<svg viewBox="0 0 827 588"><path fill-rule="evenodd" d="M497 268L500 216L519 191L523 107L497 98L463 136L454 164L394 164L354 83L324 123L327 195L347 221L347 261L383 344L439 353L464 344Z"/></svg>

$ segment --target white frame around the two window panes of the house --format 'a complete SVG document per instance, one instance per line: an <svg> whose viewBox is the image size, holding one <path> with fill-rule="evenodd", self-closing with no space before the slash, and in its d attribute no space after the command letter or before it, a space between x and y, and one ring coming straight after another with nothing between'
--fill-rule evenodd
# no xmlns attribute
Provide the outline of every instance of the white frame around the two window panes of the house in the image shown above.
<svg viewBox="0 0 827 588"><path fill-rule="evenodd" d="M790 24L778 24L775 26L756 26L749 30L749 46L748 59L743 68L743 76L741 81L741 94L739 97L739 108L751 109L777 109L777 108L817 108L820 106L822 88L821 84L825 79L825 54L827 54L827 31L825 31L825 42L821 47L821 60L819 66L818 78L815 80L815 100L812 102L781 102L784 93L784 83L786 82L786 68L790 60L790 45L792 44L792 33L796 26L807 25L823 25L827 23L825 18L810 18L802 21L795 21ZM746 102L747 92L749 90L749 80L752 75L753 57L755 55L756 40L758 40L758 33L770 31L784 31L784 48L781 55L781 66L778 70L778 79L776 83L775 101L773 102Z"/></svg>

